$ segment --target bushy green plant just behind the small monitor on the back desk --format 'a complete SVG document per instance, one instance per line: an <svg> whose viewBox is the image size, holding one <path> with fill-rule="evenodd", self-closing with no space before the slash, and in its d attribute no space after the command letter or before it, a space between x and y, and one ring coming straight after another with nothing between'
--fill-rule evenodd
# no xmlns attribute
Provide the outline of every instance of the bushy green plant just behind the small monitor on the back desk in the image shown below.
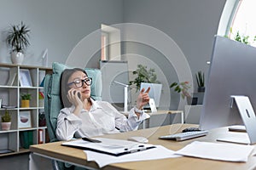
<svg viewBox="0 0 256 170"><path fill-rule="evenodd" d="M135 84L137 87L137 91L141 88L142 82L148 82L148 83L160 83L157 81L157 77L155 74L154 69L147 69L147 66L144 65L137 65L137 70L132 71L133 75L137 75L134 81L130 81L129 85Z"/></svg>

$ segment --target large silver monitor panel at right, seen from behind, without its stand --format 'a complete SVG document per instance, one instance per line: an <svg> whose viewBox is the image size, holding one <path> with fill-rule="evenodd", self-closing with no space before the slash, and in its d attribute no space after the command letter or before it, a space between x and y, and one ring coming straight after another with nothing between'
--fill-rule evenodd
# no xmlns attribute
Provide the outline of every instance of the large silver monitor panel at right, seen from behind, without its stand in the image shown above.
<svg viewBox="0 0 256 170"><path fill-rule="evenodd" d="M201 130L243 124L231 95L247 96L256 108L256 48L226 37L215 37L206 92L201 111Z"/></svg>

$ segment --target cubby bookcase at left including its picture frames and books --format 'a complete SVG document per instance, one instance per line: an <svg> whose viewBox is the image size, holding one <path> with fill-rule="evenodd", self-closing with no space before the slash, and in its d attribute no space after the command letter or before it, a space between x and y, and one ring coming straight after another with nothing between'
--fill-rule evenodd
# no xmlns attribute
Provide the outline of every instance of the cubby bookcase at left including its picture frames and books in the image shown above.
<svg viewBox="0 0 256 170"><path fill-rule="evenodd" d="M0 64L0 116L8 110L12 117L9 130L0 127L0 156L26 152L30 144L45 142L47 128L39 124L44 112L39 95L44 94L44 76L51 71L32 65ZM21 107L21 94L31 94L29 107Z"/></svg>

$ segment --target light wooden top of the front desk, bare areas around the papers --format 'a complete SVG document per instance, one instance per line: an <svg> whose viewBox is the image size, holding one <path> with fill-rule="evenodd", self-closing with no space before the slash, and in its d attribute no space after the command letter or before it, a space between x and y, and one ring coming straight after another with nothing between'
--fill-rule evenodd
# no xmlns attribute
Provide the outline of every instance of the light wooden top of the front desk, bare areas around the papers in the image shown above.
<svg viewBox="0 0 256 170"><path fill-rule="evenodd" d="M138 130L135 132L128 133L119 133L119 134L109 134L104 137L113 138L113 139L127 139L131 136L144 136L147 137L150 144L161 144L170 150L179 150L183 148L186 144L191 143L194 140L197 141L208 141L208 142L216 142L216 137L218 136L227 136L232 135L233 133L228 132L227 127L221 127L214 130L211 130L207 136L185 140L182 142L176 142L171 140L161 140L158 139L161 135L166 135L169 133L179 133L185 127L197 127L197 125L189 125L189 124L174 124L165 127L154 127ZM30 150L32 152L54 157L56 159L74 162L76 164L96 167L96 162L94 161L86 161L86 155L83 150L74 149L66 146L61 146L62 142L48 143L48 144L35 144L30 146ZM169 159L161 159L154 161L133 161L133 162L125 162L125 163L116 163L108 165L103 169L171 169L172 167L176 170L183 169L232 169L232 170L240 170L240 169L254 169L256 168L256 156L253 156L255 150L253 150L253 154L248 158L247 162L229 162L229 161L213 161L207 159L200 158L192 158L192 157L178 157L178 158L169 158Z"/></svg>

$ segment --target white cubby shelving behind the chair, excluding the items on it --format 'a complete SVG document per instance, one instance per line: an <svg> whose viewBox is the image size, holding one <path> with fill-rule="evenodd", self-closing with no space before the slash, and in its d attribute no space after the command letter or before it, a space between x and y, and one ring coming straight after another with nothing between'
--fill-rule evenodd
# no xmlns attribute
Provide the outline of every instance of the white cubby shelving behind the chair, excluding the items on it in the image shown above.
<svg viewBox="0 0 256 170"><path fill-rule="evenodd" d="M24 69L30 73L32 79L31 87L20 86L20 70ZM31 132L31 143L38 144L38 132L39 129L40 131L42 129L44 132L43 141L45 143L46 127L39 127L38 122L39 113L44 111L44 106L39 106L38 93L44 91L44 87L40 87L40 84L44 80L44 76L51 71L51 68L32 65L0 64L0 99L3 99L2 105L14 106L8 108L12 116L10 130L3 131L0 127L0 152L3 152L3 150L11 150L12 152L0 153L0 156L29 151L28 149L24 149L22 142L20 142L20 137L24 132ZM32 94L29 108L20 107L20 94L23 93ZM5 108L0 108L0 116L3 116L4 111ZM19 116L22 111L30 112L31 126L24 128L19 127Z"/></svg>

